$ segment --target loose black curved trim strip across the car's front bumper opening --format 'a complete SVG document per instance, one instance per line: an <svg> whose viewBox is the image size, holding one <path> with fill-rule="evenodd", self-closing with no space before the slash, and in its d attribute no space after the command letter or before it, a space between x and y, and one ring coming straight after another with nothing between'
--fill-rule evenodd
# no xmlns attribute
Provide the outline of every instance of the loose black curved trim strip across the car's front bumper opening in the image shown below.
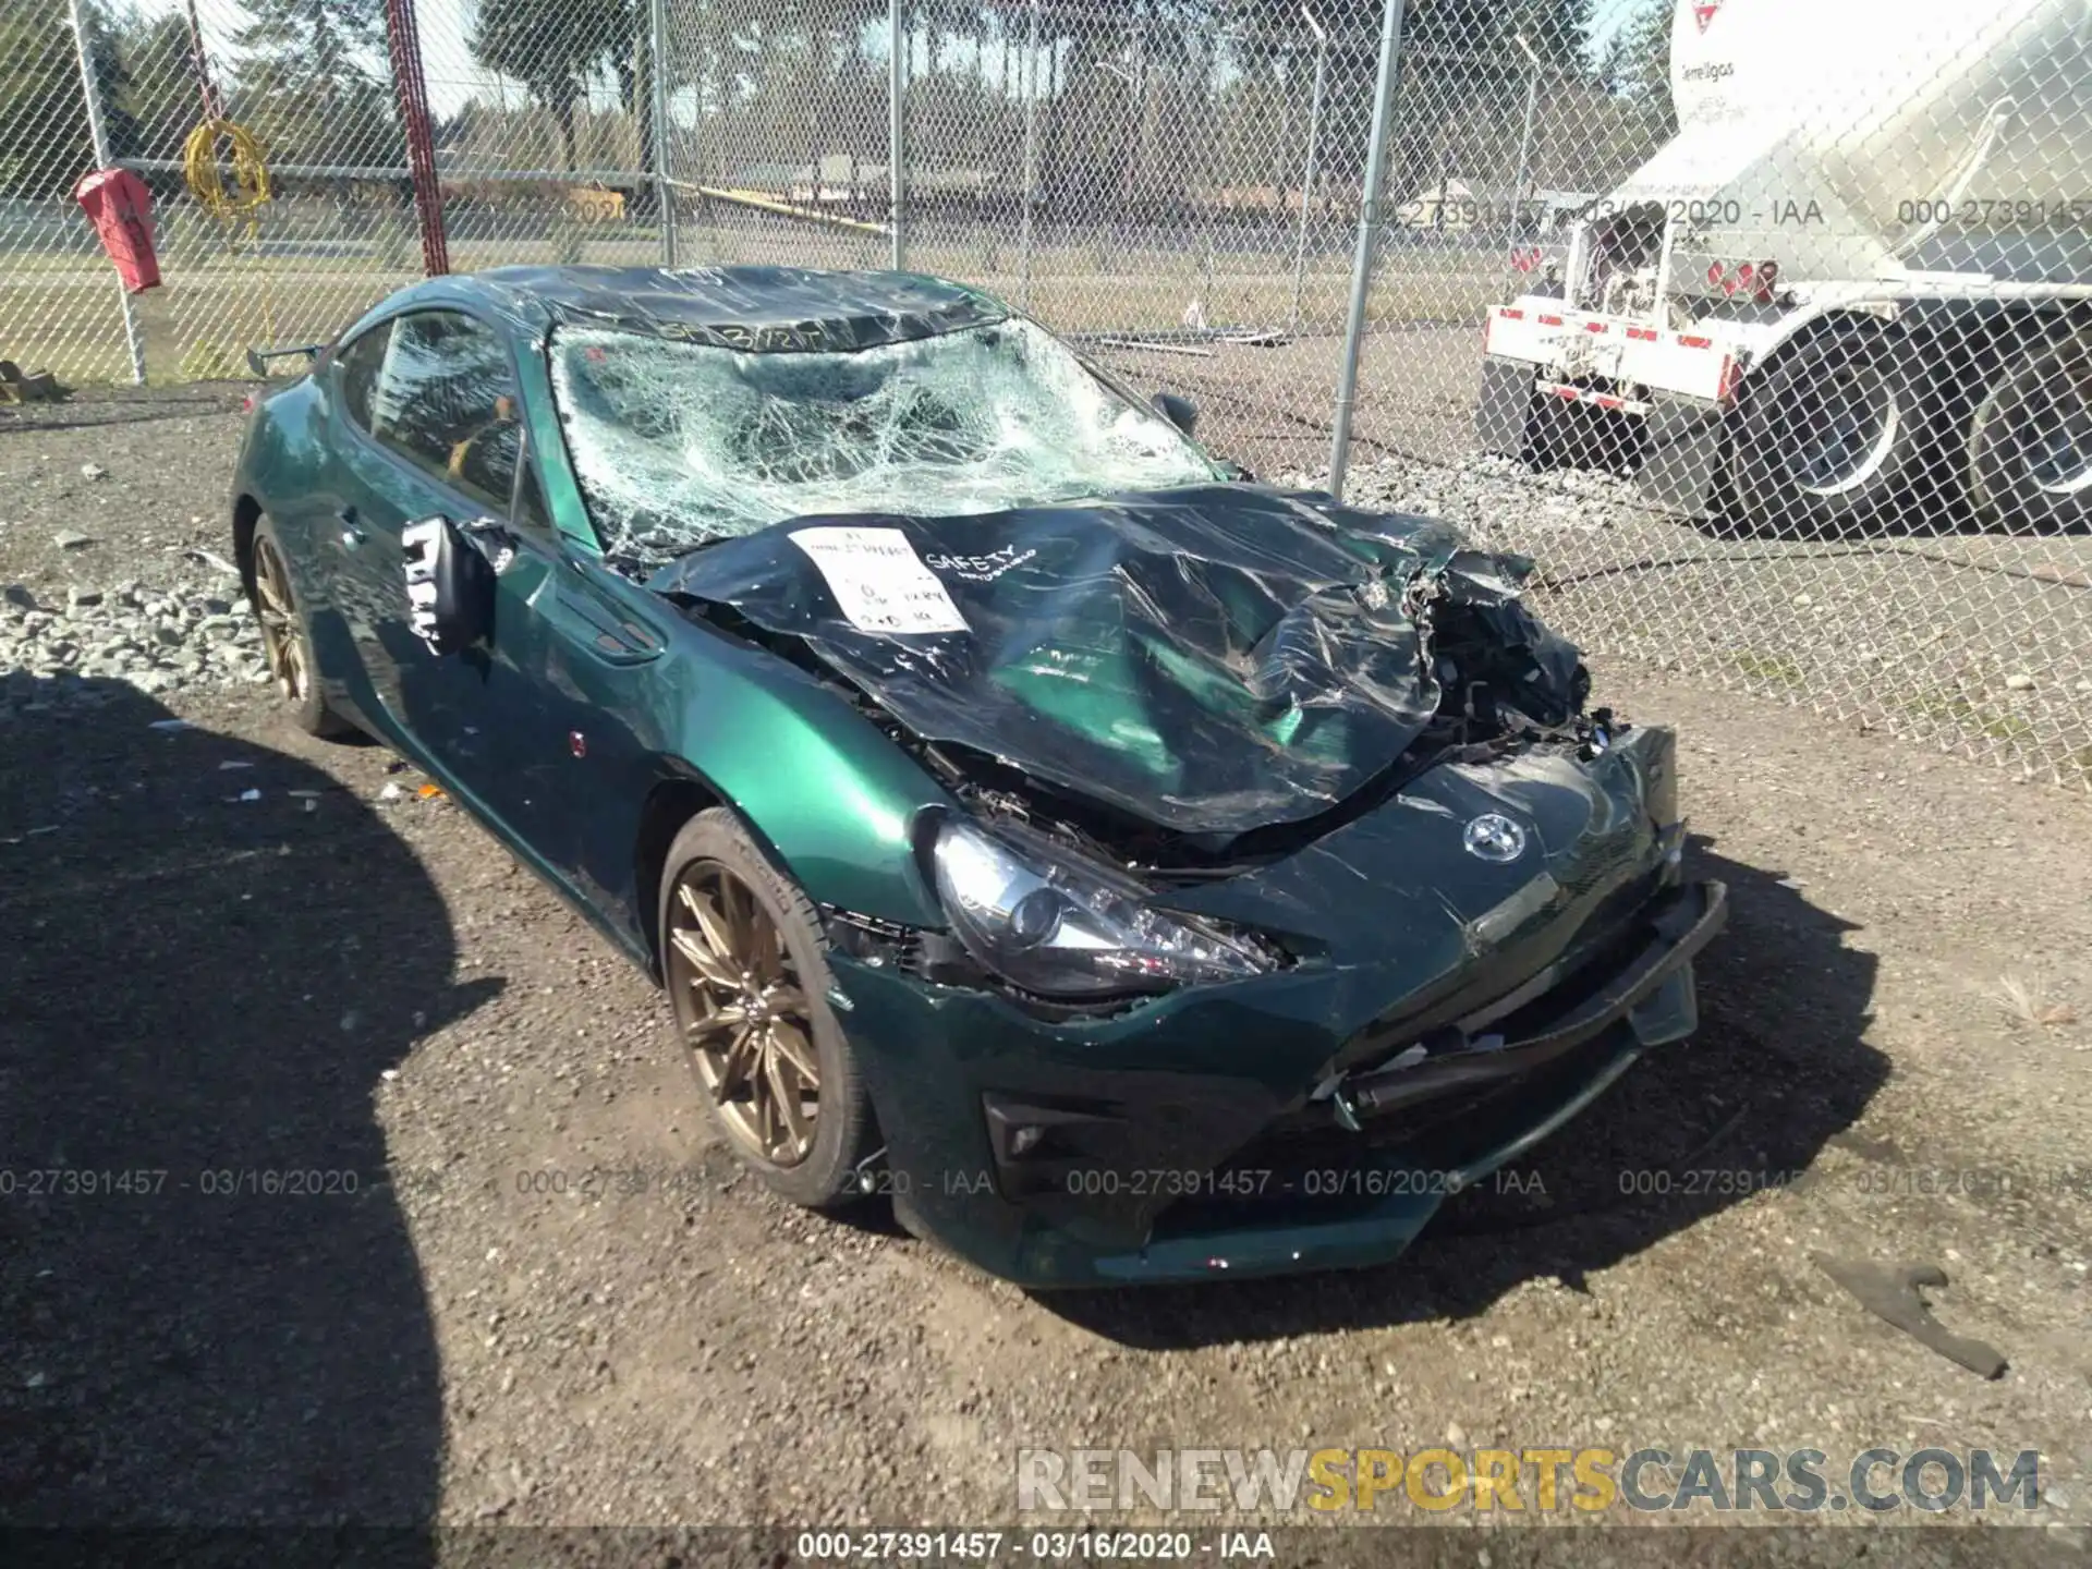
<svg viewBox="0 0 2092 1569"><path fill-rule="evenodd" d="M1728 923L1728 887L1692 883L1651 910L1655 939L1596 992L1546 1029L1506 1040L1496 1050L1452 1052L1414 1067L1391 1067L1337 1086L1339 1119L1349 1115L1370 1130L1374 1117L1454 1090L1473 1090L1519 1077L1575 1050L1628 1019L1657 987L1682 971Z"/></svg>

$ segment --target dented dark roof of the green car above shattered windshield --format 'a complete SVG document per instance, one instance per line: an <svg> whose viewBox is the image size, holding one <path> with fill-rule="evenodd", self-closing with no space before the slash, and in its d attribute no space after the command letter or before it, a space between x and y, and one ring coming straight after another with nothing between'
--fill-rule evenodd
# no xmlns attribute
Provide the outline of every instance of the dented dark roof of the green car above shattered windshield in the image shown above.
<svg viewBox="0 0 2092 1569"><path fill-rule="evenodd" d="M408 303L479 299L513 326L609 326L755 354L837 354L1008 318L960 282L818 268L492 268L431 278Z"/></svg>

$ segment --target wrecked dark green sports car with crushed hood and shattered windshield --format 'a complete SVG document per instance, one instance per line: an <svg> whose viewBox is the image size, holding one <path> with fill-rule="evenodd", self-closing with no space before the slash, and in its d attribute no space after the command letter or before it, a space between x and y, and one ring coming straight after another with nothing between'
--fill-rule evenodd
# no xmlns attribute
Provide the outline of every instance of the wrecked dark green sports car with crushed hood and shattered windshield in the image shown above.
<svg viewBox="0 0 2092 1569"><path fill-rule="evenodd" d="M1027 1287L1372 1264L1697 1023L1672 734L1529 563L979 291L504 268L310 354L232 485L285 703L644 964L795 1203Z"/></svg>

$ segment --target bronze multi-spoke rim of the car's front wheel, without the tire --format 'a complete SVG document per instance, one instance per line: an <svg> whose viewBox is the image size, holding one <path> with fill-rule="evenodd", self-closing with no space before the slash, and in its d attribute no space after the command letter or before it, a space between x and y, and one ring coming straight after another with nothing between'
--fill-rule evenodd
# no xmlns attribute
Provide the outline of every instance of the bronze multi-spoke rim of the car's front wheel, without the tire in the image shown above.
<svg viewBox="0 0 2092 1569"><path fill-rule="evenodd" d="M820 1117L820 1056L784 937L726 866L690 862L667 904L676 1023L728 1134L774 1167L799 1165Z"/></svg>

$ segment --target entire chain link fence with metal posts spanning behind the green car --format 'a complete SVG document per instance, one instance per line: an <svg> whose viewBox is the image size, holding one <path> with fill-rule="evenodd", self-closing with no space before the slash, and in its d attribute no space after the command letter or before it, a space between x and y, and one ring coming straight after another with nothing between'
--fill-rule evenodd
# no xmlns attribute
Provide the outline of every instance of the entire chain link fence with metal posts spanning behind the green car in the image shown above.
<svg viewBox="0 0 2092 1569"><path fill-rule="evenodd" d="M245 374L431 257L900 259L1596 653L2092 780L2082 0L10 0L0 61L23 368Z"/></svg>

